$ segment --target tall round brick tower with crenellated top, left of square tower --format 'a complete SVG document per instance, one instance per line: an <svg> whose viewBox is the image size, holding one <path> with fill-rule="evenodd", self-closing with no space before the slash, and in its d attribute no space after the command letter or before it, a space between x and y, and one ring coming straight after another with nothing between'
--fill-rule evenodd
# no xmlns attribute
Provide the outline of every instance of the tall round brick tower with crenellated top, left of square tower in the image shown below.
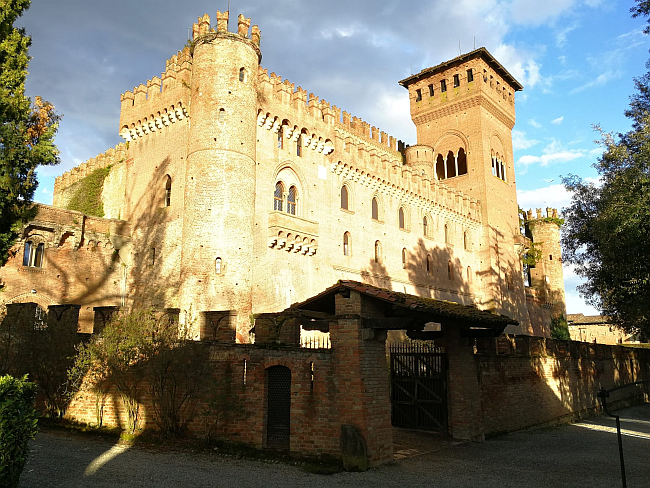
<svg viewBox="0 0 650 488"><path fill-rule="evenodd" d="M194 24L181 256L181 307L192 326L206 338L236 333L238 342L248 341L252 309L261 60L259 29L249 38L249 26L240 15L228 32L228 12L217 12L216 30L207 14Z"/></svg>

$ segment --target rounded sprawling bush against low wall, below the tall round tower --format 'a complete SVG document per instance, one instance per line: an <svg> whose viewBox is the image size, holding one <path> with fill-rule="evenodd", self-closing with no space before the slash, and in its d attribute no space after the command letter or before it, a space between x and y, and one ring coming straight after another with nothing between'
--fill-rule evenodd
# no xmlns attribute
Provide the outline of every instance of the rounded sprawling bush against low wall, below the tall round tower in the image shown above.
<svg viewBox="0 0 650 488"><path fill-rule="evenodd" d="M140 428L140 403L147 393L161 431L180 436L211 377L208 348L189 340L188 330L172 316L148 309L116 314L100 335L78 348L70 381L80 385L85 377L100 394L114 386L129 434Z"/></svg>

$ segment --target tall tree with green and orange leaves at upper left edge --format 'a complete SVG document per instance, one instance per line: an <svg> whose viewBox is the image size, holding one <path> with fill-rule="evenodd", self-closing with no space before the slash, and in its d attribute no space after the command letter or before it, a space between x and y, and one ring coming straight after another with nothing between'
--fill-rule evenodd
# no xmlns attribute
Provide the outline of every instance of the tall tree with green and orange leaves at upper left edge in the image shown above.
<svg viewBox="0 0 650 488"><path fill-rule="evenodd" d="M25 96L31 38L14 22L31 0L0 0L0 265L21 224L33 217L36 168L59 162L54 106Z"/></svg>

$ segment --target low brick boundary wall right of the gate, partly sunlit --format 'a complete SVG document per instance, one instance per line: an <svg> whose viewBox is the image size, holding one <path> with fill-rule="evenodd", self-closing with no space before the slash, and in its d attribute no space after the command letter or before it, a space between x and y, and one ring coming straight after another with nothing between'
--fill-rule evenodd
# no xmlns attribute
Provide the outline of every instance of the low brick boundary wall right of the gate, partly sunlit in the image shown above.
<svg viewBox="0 0 650 488"><path fill-rule="evenodd" d="M650 350L501 336L479 339L475 355L485 433L522 429L598 409L596 394L650 379ZM612 393L631 401L648 389Z"/></svg>

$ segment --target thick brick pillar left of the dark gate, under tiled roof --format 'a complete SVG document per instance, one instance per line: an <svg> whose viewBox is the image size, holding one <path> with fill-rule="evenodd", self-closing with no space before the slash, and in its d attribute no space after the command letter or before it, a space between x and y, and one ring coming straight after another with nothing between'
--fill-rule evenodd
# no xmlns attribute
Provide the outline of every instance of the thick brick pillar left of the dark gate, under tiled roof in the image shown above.
<svg viewBox="0 0 650 488"><path fill-rule="evenodd" d="M356 291L336 295L338 320L330 323L334 398L340 425L353 425L363 436L368 465L393 459L386 333L363 328L370 301Z"/></svg>

